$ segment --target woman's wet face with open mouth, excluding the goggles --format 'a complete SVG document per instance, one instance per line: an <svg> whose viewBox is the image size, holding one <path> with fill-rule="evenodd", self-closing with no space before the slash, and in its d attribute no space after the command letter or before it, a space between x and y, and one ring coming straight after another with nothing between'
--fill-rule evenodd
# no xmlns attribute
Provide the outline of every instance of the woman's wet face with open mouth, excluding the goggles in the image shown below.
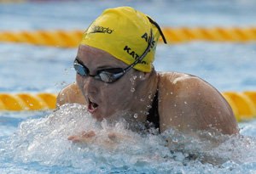
<svg viewBox="0 0 256 174"><path fill-rule="evenodd" d="M87 67L90 75L96 75L100 70L112 68L126 68L124 62L114 58L111 54L97 48L80 45L77 55L82 64ZM134 81L136 70L129 70L118 81L106 83L92 76L80 76L76 80L87 102L88 111L102 121L121 111L129 111L134 105L134 90L137 80Z"/></svg>

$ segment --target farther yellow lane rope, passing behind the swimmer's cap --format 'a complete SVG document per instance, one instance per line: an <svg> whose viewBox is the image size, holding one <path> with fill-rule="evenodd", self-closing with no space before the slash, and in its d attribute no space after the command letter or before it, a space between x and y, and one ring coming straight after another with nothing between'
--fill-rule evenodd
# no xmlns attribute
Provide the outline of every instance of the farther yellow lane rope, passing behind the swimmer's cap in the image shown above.
<svg viewBox="0 0 256 174"><path fill-rule="evenodd" d="M170 28L162 29L168 43L192 42L255 42L256 27ZM84 31L0 31L0 42L26 42L61 48L78 47ZM160 42L162 42L160 38Z"/></svg>

